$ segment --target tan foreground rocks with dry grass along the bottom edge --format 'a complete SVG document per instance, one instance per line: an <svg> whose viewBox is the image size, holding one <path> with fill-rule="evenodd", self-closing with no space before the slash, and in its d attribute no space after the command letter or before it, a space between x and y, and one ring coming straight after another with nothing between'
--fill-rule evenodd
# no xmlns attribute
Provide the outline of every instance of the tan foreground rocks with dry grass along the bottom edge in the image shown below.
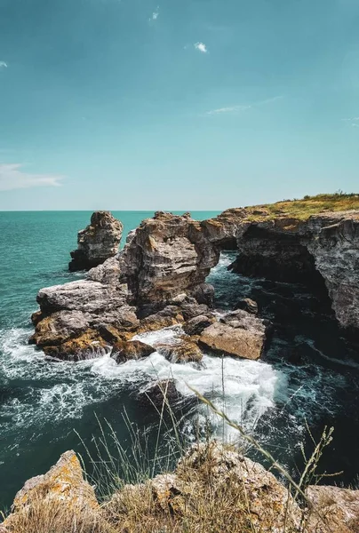
<svg viewBox="0 0 359 533"><path fill-rule="evenodd" d="M182 402L172 380L153 384L143 394L144 405L156 410L163 409L164 396L166 402ZM299 506L273 473L243 457L233 446L210 441L189 448L172 473L124 485L106 505L99 505L92 487L84 481L76 455L69 451L48 473L26 482L0 531L104 533L130 530L130 523L136 526L131 530L137 530L143 521L156 524L156 530L162 531L169 520L172 525L189 523L191 530L196 530L196 525L203 526L207 514L213 531L222 530L219 527L225 521L226 531L231 530L231 524L236 531L262 533L284 529L293 533L357 531L358 490L309 486L306 494L306 505ZM83 529L84 523L87 528Z"/></svg>

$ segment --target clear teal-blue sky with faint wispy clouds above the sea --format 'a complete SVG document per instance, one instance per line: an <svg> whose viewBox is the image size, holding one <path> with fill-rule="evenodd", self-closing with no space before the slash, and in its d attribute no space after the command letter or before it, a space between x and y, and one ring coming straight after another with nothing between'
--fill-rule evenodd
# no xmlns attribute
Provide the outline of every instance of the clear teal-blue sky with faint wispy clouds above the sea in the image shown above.
<svg viewBox="0 0 359 533"><path fill-rule="evenodd" d="M0 0L0 211L359 189L358 0Z"/></svg>

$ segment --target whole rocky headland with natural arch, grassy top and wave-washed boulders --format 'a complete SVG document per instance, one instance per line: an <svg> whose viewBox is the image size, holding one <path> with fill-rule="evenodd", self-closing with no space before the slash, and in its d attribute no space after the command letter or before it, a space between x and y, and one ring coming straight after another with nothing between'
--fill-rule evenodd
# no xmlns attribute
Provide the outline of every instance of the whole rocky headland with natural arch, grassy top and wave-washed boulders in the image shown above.
<svg viewBox="0 0 359 533"><path fill-rule="evenodd" d="M178 362L199 361L198 346L258 359L270 323L260 317L256 302L240 302L227 314L213 312L214 290L206 278L228 248L238 251L230 266L234 272L322 290L343 332L357 336L359 199L326 198L231 209L202 222L189 213L157 212L87 279L39 291L30 342L45 354L69 360L105 354L121 342L116 360L125 361L126 353L133 356L128 343L135 335L180 325ZM340 211L343 206L350 209ZM103 217L110 215L92 215L93 222ZM116 226L112 218L110 226ZM116 227L118 236L121 223ZM103 258L108 241L103 251L96 242L98 258Z"/></svg>

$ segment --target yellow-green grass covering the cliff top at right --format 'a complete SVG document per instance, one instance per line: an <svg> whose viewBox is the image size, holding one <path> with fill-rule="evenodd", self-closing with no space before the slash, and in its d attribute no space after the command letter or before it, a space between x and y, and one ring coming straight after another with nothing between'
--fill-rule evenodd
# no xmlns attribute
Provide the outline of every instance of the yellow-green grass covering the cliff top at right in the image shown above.
<svg viewBox="0 0 359 533"><path fill-rule="evenodd" d="M300 200L294 198L293 200L251 206L246 209L268 211L267 215L256 213L249 215L248 219L252 220L270 220L278 217L307 220L310 216L325 211L359 210L359 194L338 192L332 195L304 196Z"/></svg>

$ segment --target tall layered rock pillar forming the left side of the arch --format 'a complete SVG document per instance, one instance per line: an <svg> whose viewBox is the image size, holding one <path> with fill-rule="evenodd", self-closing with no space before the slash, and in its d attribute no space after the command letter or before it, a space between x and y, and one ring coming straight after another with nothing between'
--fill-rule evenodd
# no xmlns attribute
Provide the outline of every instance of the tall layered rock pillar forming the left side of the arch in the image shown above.
<svg viewBox="0 0 359 533"><path fill-rule="evenodd" d="M120 258L121 279L137 305L171 301L200 290L219 260L219 248L208 241L201 224L172 213L157 212L144 220Z"/></svg>

